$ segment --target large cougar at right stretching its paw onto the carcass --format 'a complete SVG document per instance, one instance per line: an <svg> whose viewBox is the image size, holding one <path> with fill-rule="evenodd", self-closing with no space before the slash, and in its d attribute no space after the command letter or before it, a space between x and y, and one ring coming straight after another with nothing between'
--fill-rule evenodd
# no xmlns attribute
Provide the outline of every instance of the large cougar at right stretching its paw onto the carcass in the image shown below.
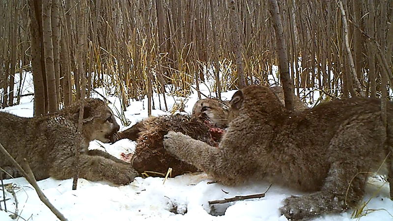
<svg viewBox="0 0 393 221"><path fill-rule="evenodd" d="M284 200L287 219L340 213L363 199L367 172L392 173L393 103L388 127L379 99L335 100L288 111L263 86L237 91L219 148L169 132L164 147L225 185L267 181L308 192ZM387 133L388 132L388 133Z"/></svg>

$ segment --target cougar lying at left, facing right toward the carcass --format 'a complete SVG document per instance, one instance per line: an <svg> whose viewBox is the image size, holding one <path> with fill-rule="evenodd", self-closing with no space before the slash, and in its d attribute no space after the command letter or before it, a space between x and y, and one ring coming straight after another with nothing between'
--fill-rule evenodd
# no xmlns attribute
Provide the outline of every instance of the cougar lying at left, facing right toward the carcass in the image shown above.
<svg viewBox="0 0 393 221"><path fill-rule="evenodd" d="M54 177L68 179L75 172L75 153L80 144L79 177L91 181L107 180L128 184L137 172L112 155L88 150L89 142L109 142L119 130L111 109L100 99L86 99L82 140L77 125L80 102L40 117L25 118L0 111L0 142L18 162L26 158L37 180ZM0 153L0 167L12 164Z"/></svg>

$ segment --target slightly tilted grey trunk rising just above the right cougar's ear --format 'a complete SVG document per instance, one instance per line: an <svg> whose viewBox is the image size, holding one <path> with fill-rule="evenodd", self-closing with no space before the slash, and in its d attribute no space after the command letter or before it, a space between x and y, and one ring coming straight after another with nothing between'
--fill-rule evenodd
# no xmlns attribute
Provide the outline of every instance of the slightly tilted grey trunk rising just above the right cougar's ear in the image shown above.
<svg viewBox="0 0 393 221"><path fill-rule="evenodd" d="M232 47L233 53L235 55L237 78L239 83L239 89L242 89L246 86L246 79L244 78L242 41L240 39L240 30L238 25L235 0L229 1L229 17L232 28Z"/></svg>

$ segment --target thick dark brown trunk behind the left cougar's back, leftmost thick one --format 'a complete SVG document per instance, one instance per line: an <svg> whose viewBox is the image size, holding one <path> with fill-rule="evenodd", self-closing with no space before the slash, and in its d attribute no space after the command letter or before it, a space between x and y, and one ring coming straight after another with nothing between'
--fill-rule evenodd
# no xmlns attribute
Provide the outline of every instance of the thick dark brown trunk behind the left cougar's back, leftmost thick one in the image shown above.
<svg viewBox="0 0 393 221"><path fill-rule="evenodd" d="M33 72L34 84L34 116L45 114L45 87L41 65L41 46L39 36L39 25L37 10L34 0L28 1L30 8L30 46L31 46L31 67Z"/></svg>

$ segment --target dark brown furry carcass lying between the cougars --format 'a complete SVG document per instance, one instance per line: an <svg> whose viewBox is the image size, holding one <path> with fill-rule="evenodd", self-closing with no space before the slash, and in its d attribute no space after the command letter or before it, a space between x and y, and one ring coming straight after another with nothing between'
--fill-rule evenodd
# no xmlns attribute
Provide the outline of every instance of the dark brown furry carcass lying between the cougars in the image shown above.
<svg viewBox="0 0 393 221"><path fill-rule="evenodd" d="M180 114L150 117L137 123L128 132L126 130L119 134L120 138L122 136L133 138L135 133L138 133L135 154L131 160L137 171L140 173L144 171L167 173L168 168L171 167L172 176L197 171L195 166L177 160L164 149L164 135L168 131L180 132L209 145L216 146L210 135L209 127L195 117ZM149 175L154 176L155 174Z"/></svg>

